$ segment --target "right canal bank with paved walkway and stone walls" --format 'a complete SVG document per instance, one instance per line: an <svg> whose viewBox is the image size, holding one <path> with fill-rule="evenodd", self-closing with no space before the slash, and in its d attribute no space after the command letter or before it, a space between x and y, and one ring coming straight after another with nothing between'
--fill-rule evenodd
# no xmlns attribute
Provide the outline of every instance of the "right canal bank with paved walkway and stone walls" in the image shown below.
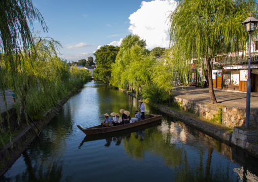
<svg viewBox="0 0 258 182"><path fill-rule="evenodd" d="M111 87L113 87L111 85ZM115 87L116 88L116 87ZM124 89L120 89L124 93L136 97L136 94ZM251 97L251 119L250 122L254 129L246 130L245 124L245 97L246 93L229 92L223 90L215 90L218 104L209 104L208 89L193 88L193 87L177 87L173 92L173 101L184 112L176 112L171 108L161 105L152 104L159 110L168 115L176 117L178 120L212 136L229 145L235 145L238 148L246 150L250 155L258 158L258 93L252 93ZM140 97L138 96L138 99ZM222 105L223 104L223 105ZM234 107L233 107L234 106ZM237 107L239 106L239 107ZM221 108L221 109L220 109ZM186 113L188 112L188 113ZM197 116L204 120L217 120L218 113L221 113L221 123L215 125L208 122L196 119ZM210 116L210 117L207 117ZM237 120L237 121L236 121ZM220 126L221 127L220 127ZM228 128L228 129L227 129ZM228 130L232 130L228 131Z"/></svg>

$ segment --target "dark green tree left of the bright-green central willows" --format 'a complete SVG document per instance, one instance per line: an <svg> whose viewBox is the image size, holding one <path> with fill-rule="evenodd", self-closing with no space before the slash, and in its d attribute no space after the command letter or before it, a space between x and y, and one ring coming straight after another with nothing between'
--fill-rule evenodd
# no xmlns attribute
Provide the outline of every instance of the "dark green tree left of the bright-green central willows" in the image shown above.
<svg viewBox="0 0 258 182"><path fill-rule="evenodd" d="M98 65L93 72L94 79L109 82L111 79L111 65L115 62L118 51L119 47L106 45L93 53L95 62Z"/></svg>

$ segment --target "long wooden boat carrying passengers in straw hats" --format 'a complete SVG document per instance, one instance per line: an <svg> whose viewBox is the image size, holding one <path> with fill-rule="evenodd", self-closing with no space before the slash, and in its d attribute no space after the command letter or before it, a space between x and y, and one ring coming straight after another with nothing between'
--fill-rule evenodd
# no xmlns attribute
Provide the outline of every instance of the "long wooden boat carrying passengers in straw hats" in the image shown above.
<svg viewBox="0 0 258 182"><path fill-rule="evenodd" d="M94 134L110 133L110 132L125 130L129 128L145 125L148 123L152 123L161 119L162 119L162 115L149 114L149 115L145 115L145 120L136 121L134 123L128 123L128 124L123 124L118 126L101 127L101 125L98 125L98 126L85 128L85 129L83 129L79 125L77 125L77 127L80 130L82 130L86 135L94 135Z"/></svg>

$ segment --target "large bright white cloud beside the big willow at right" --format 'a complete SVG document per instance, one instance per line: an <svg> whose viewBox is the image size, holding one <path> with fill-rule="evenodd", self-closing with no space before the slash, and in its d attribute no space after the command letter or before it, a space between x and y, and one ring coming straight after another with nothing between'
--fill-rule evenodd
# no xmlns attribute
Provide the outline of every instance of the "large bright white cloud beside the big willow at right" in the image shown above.
<svg viewBox="0 0 258 182"><path fill-rule="evenodd" d="M133 34L146 40L146 48L169 47L168 16L175 9L174 0L142 2L141 8L131 14L130 27Z"/></svg>

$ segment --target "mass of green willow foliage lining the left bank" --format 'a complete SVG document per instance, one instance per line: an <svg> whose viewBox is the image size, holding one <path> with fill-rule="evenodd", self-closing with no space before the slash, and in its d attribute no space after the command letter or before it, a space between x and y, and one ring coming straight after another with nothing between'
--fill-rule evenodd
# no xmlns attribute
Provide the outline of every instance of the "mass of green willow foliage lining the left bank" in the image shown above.
<svg viewBox="0 0 258 182"><path fill-rule="evenodd" d="M86 69L74 68L71 72L66 60L57 57L59 42L51 38L34 38L35 49L33 54L22 52L15 55L15 69L5 59L0 59L5 87L10 88L16 95L15 104L18 113L19 123L22 124L25 118L21 118L21 112L28 113L34 120L43 118L43 114L57 101L75 87L82 88L83 84L90 79L90 72ZM9 55L6 55L9 56ZM16 58L17 57L17 58ZM15 78L15 79L12 79ZM21 106L20 106L21 104ZM9 127L10 130L10 127ZM11 132L4 131L12 138ZM3 144L6 138L1 136Z"/></svg>

